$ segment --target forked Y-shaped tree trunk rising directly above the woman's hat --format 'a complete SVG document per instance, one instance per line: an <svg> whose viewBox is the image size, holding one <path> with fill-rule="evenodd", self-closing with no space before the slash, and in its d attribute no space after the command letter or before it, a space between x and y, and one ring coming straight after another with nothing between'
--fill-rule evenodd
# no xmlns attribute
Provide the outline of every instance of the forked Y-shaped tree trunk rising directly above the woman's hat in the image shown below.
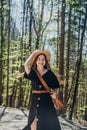
<svg viewBox="0 0 87 130"><path fill-rule="evenodd" d="M36 45L35 45L35 49L38 49L40 47L40 41L42 40L42 35L44 30L47 28L51 17L52 17L52 9L53 9L53 0L51 0L51 11L50 11L50 18L48 20L48 22L46 23L46 26L43 27L42 26L42 22L43 22L43 16L44 16L44 6L45 6L45 0L41 0L41 7L39 6L39 10L41 8L41 13L39 14L39 18L36 20L35 17L33 16L33 27L34 27L34 31L36 33ZM38 21L38 25L36 24Z"/></svg>

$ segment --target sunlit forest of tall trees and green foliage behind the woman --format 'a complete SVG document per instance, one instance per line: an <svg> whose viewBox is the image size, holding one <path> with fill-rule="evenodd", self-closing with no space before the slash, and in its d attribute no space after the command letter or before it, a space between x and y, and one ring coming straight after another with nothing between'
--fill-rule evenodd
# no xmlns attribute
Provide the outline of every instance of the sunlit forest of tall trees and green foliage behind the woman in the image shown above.
<svg viewBox="0 0 87 130"><path fill-rule="evenodd" d="M63 116L87 121L87 1L0 1L0 105L29 109L31 84L16 75L36 49L51 52Z"/></svg>

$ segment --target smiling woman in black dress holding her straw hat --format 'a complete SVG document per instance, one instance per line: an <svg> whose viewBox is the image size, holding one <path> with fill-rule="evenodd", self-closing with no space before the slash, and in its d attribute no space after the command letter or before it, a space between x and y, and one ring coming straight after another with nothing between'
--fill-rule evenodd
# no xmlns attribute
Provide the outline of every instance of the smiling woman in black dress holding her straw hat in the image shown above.
<svg viewBox="0 0 87 130"><path fill-rule="evenodd" d="M49 66L50 52L34 51L25 62L24 77L31 80L32 94L28 125L23 130L61 130L57 113L52 102L56 93L50 95L40 82L37 70L47 85L53 90L59 88L59 82Z"/></svg>

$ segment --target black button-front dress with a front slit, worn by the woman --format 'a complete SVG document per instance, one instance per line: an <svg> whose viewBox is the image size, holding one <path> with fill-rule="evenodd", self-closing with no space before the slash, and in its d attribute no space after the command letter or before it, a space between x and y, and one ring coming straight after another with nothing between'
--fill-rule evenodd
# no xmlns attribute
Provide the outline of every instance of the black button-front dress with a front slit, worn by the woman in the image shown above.
<svg viewBox="0 0 87 130"><path fill-rule="evenodd" d="M33 69L29 75L25 73L24 77L31 80L32 90L46 90ZM51 70L48 70L42 77L50 88L59 88L58 79ZM28 125L23 130L30 130L30 125L35 116L38 118L37 130L61 130L57 113L49 93L33 93L30 102Z"/></svg>

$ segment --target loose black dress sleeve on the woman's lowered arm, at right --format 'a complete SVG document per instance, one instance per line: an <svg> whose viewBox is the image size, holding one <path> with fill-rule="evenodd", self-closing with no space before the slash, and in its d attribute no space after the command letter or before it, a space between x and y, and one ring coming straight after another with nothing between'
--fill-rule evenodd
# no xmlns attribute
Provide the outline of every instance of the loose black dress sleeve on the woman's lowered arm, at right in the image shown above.
<svg viewBox="0 0 87 130"><path fill-rule="evenodd" d="M52 89L60 88L58 78L56 77L54 72L51 72L51 88Z"/></svg>

